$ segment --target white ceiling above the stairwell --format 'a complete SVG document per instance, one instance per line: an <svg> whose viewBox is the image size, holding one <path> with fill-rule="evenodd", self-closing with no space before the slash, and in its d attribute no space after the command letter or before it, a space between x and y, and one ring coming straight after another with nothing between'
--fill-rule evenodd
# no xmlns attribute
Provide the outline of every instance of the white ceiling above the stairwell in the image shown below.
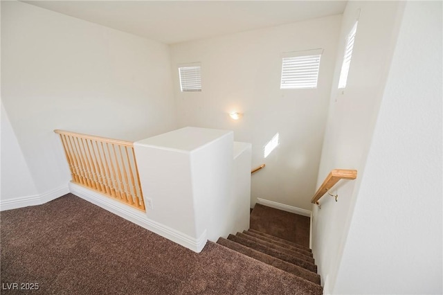
<svg viewBox="0 0 443 295"><path fill-rule="evenodd" d="M343 13L346 1L24 1L165 44Z"/></svg>

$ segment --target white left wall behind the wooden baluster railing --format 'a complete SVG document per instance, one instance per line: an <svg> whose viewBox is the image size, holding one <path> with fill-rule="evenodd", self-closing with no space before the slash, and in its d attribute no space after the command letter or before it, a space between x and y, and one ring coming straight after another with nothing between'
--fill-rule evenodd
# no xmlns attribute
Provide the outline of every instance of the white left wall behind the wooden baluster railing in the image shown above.
<svg viewBox="0 0 443 295"><path fill-rule="evenodd" d="M39 194L69 181L53 129L135 141L175 127L165 44L18 1L1 1L1 44L1 99Z"/></svg>

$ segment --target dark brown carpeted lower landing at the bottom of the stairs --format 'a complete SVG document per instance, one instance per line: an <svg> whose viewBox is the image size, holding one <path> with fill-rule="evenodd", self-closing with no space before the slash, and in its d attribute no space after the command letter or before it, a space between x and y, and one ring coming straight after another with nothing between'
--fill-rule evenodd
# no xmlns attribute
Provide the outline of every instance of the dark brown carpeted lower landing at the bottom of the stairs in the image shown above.
<svg viewBox="0 0 443 295"><path fill-rule="evenodd" d="M309 247L310 218L255 204L251 229ZM284 225L284 226L283 226Z"/></svg>

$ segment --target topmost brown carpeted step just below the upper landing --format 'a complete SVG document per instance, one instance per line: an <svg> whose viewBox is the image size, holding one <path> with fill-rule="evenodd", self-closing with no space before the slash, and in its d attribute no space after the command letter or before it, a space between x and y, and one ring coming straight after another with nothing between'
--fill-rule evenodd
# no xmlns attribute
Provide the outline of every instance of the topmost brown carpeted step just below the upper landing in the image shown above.
<svg viewBox="0 0 443 295"><path fill-rule="evenodd" d="M300 278L304 278L305 280L309 280L312 283L316 283L320 285L320 276L312 271L309 271L303 267L299 267L298 265L293 265L292 263L280 260L278 258L274 258L268 254L262 253L260 251L256 251L254 249L248 248L242 244L237 242L233 242L231 240L226 240L224 238L219 238L217 240L217 244L221 244L224 247L242 253L246 256L254 258L255 260L259 260L261 262L266 263L267 265L271 265L278 269L282 269L284 271L289 272L290 274L299 276Z"/></svg>

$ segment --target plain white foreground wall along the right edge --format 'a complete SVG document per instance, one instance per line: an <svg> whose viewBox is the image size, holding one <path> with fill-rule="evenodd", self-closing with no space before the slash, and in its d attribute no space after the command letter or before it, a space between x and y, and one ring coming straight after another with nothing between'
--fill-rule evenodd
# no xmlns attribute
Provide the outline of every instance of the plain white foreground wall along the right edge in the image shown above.
<svg viewBox="0 0 443 295"><path fill-rule="evenodd" d="M442 11L406 3L334 294L443 292Z"/></svg>

